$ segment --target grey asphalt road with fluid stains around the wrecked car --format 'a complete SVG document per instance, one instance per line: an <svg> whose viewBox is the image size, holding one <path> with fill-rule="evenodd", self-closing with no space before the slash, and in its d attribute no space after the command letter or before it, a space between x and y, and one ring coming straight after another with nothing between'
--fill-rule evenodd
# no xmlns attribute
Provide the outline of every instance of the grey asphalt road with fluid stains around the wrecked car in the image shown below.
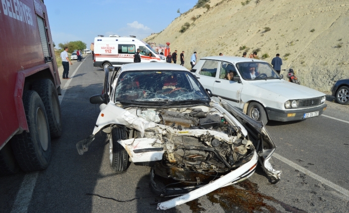
<svg viewBox="0 0 349 213"><path fill-rule="evenodd" d="M99 115L98 106L90 104L89 98L101 93L104 73L93 67L88 55L83 62L74 62L69 76L73 78L62 80L63 135L52 140L49 168L0 177L0 211L155 212L156 205L150 203L163 198L145 198L153 196L150 169L131 164L126 172L112 172L105 134L98 133L89 151L78 155L76 142L92 133ZM277 184L270 184L264 172L257 169L243 183L165 212L349 212L349 106L332 102L328 105L324 115L331 118L268 123L266 128L277 145L271 163L274 169L283 171ZM116 202L87 193L117 200L143 199Z"/></svg>

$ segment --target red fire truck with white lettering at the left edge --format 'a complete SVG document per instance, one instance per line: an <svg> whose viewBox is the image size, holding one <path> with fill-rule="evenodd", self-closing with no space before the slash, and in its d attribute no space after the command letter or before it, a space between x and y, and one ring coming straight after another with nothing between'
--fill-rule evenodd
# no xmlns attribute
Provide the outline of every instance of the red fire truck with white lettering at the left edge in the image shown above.
<svg viewBox="0 0 349 213"><path fill-rule="evenodd" d="M0 174L44 170L62 133L44 0L1 0L0 51Z"/></svg>

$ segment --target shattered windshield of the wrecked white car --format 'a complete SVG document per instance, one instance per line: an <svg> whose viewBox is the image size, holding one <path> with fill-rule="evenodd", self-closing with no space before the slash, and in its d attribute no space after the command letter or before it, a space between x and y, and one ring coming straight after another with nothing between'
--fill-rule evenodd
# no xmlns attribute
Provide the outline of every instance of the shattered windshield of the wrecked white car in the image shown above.
<svg viewBox="0 0 349 213"><path fill-rule="evenodd" d="M120 74L115 101L210 101L191 73L185 71L128 71Z"/></svg>

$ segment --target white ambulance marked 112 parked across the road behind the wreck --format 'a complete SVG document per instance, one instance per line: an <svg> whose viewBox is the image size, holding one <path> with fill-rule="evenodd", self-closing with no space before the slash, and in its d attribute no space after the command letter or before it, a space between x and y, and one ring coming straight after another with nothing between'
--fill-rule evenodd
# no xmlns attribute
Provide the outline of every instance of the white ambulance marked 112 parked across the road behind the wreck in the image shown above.
<svg viewBox="0 0 349 213"><path fill-rule="evenodd" d="M136 39L135 36L111 35L95 38L94 67L104 69L108 66L119 67L123 64L133 63L138 48L141 50L141 62L166 62L166 57L156 54L148 43Z"/></svg>

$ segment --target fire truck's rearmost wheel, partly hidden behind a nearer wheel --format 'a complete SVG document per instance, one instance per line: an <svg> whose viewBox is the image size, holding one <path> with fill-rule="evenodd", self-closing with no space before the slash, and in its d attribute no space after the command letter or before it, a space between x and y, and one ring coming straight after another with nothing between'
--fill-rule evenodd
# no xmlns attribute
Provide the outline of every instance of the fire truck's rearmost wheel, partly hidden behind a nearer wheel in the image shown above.
<svg viewBox="0 0 349 213"><path fill-rule="evenodd" d="M34 82L32 89L38 92L41 100L43 100L49 119L51 137L59 137L62 135L62 116L56 88L50 79L44 79Z"/></svg>

